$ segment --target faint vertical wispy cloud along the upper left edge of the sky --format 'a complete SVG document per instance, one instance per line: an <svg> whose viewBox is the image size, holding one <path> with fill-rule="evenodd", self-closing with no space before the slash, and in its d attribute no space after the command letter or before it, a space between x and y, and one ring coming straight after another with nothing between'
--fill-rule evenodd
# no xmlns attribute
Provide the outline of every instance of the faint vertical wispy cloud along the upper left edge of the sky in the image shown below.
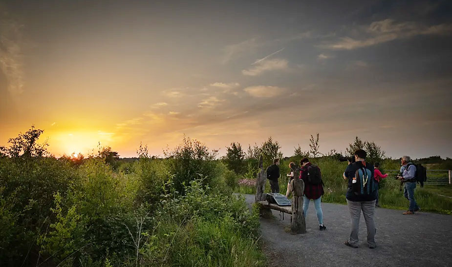
<svg viewBox="0 0 452 267"><path fill-rule="evenodd" d="M7 15L6 12L2 13ZM23 93L22 25L0 19L0 69L6 76L8 92L15 101Z"/></svg>

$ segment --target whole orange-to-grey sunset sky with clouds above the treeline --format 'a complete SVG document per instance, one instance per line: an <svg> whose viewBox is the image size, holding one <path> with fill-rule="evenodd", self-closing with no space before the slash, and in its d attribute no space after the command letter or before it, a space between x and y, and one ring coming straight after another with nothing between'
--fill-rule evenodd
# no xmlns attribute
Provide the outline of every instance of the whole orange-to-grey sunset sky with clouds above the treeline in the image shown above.
<svg viewBox="0 0 452 267"><path fill-rule="evenodd" d="M365 4L364 4L365 3ZM0 0L0 145L452 157L452 1Z"/></svg>

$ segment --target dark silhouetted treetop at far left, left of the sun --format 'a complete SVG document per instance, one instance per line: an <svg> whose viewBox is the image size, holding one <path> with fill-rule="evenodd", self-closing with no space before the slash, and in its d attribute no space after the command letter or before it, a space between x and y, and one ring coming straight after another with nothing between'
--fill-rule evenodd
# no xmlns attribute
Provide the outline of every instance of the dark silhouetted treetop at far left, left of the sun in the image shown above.
<svg viewBox="0 0 452 267"><path fill-rule="evenodd" d="M35 129L35 126L31 125L31 129L24 134L19 133L18 137L10 138L8 140L8 144L11 144L9 147L0 146L0 156L11 158L47 156L49 154L46 149L48 146L47 141L43 144L38 143L38 139L43 132L43 130Z"/></svg>

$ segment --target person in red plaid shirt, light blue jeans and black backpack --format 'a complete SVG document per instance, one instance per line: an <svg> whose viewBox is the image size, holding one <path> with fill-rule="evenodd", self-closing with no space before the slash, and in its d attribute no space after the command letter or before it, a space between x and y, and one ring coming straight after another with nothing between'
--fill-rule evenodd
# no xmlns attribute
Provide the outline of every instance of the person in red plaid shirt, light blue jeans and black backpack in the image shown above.
<svg viewBox="0 0 452 267"><path fill-rule="evenodd" d="M316 207L317 219L319 220L319 229L321 231L326 230L326 226L323 225L323 212L322 212L322 195L323 182L322 173L319 166L311 164L308 158L303 158L300 161L300 179L304 182L304 195L303 195L303 213L304 218L307 217L309 208L309 202L311 199L314 201Z"/></svg>

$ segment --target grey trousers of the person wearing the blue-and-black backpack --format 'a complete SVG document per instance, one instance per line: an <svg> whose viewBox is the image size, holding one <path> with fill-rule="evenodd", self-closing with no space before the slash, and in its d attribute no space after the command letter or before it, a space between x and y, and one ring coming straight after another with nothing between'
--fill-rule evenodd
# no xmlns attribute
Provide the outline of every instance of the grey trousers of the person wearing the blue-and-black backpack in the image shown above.
<svg viewBox="0 0 452 267"><path fill-rule="evenodd" d="M376 246L375 243L375 222L373 215L375 211L375 200L355 202L347 200L348 211L350 212L351 233L348 243L352 246L358 246L359 220L361 217L361 210L363 211L364 220L367 228L367 244L369 246Z"/></svg>

